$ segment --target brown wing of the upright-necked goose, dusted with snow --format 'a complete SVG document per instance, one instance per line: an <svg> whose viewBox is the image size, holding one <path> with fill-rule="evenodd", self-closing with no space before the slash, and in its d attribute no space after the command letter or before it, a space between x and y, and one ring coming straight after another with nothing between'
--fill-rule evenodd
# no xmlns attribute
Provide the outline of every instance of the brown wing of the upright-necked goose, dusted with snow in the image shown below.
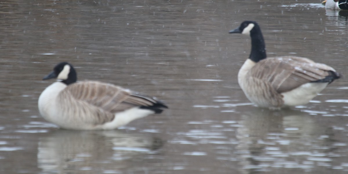
<svg viewBox="0 0 348 174"><path fill-rule="evenodd" d="M267 81L278 92L293 90L308 82L324 79L333 68L303 57L266 58L250 70L254 78Z"/></svg>

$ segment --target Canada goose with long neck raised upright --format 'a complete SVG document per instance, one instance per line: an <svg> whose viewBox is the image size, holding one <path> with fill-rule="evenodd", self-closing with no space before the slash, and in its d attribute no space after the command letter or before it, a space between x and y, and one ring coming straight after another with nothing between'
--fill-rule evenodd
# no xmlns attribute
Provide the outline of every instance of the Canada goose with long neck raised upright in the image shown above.
<svg viewBox="0 0 348 174"><path fill-rule="evenodd" d="M229 33L251 37L251 53L238 72L238 83L254 104L269 109L307 104L341 75L333 68L304 57L266 58L258 23L244 21Z"/></svg>

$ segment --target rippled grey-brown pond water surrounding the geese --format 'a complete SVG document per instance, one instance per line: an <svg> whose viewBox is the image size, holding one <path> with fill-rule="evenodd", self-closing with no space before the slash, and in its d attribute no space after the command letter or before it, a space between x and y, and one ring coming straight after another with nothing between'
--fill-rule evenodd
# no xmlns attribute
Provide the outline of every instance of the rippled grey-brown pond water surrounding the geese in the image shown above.
<svg viewBox="0 0 348 174"><path fill-rule="evenodd" d="M237 83L261 25L269 56L296 55L347 74L345 11L321 0L0 3L0 173L347 173L348 82L307 105L255 107ZM37 100L53 66L80 80L157 96L170 109L118 130L58 129Z"/></svg>

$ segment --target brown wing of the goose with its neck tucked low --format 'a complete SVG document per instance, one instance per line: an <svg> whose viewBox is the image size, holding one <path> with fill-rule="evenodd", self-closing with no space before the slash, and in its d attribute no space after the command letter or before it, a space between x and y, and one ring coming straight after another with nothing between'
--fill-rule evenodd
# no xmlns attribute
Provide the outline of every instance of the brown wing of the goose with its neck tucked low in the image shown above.
<svg viewBox="0 0 348 174"><path fill-rule="evenodd" d="M97 81L81 81L66 87L60 94L61 98L70 98L78 107L90 116L85 118L94 124L112 121L114 114L134 106L152 106L156 100L144 95L133 93L112 84ZM73 106L72 106L73 107ZM86 114L88 115L88 114Z"/></svg>

